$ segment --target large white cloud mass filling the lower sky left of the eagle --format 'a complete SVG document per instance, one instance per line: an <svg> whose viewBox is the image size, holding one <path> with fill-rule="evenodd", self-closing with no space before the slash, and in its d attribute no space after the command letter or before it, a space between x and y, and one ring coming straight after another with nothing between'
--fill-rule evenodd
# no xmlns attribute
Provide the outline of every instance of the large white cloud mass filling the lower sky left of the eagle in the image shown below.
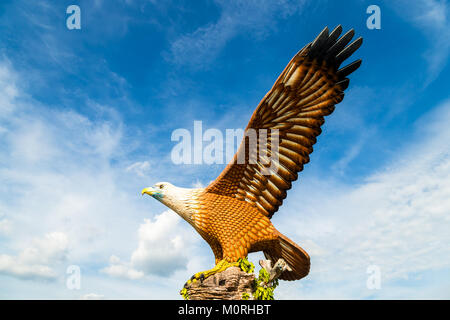
<svg viewBox="0 0 450 320"><path fill-rule="evenodd" d="M5 72L10 75L9 81L3 83L17 87L15 81L20 82L20 77L15 80L12 67L0 65L9 68ZM7 97L5 90L0 86L0 96ZM87 104L98 117L71 109L56 111L20 90L9 102L14 108L8 117L0 117L4 129L0 131L0 180L7 182L0 184L0 221L2 232L12 227L14 232L3 232L0 241L4 288L0 294L15 291L15 296L24 296L19 291L27 284L20 283L20 279L61 280L67 276L65 267L75 264L82 270L82 279L95 280L83 280L83 288L92 292L101 289L114 296L114 291L116 297L123 297L123 291L112 284L126 284L105 274L143 281L156 275L164 281L152 287L163 288L166 297L176 296L178 291L169 284L184 283L200 265L205 265L201 263L202 254L197 251L199 258L192 252L197 235L187 223L178 223L175 213L145 221L136 234L142 219L151 217L150 212L155 207L160 210L161 205L140 195L148 181L156 181L147 172L151 159L130 168L128 152L134 151L139 141L126 132L129 128L120 116L90 101ZM136 170L145 176L129 174ZM160 228L167 233L159 233ZM52 234L54 230L70 239L67 250L58 251L51 243L46 244L46 249L39 239L33 240L37 234ZM165 250L169 254L161 250L164 246L158 239L161 243L167 241ZM129 256L130 261L113 258L99 274L99 266L105 266L111 254ZM68 296L59 282L41 282L36 292L50 290L46 297ZM101 287L91 288L90 283L100 283ZM138 282L133 283L136 286ZM109 287L108 291L104 287ZM163 294L161 290L155 292L157 296L147 292L145 297Z"/></svg>

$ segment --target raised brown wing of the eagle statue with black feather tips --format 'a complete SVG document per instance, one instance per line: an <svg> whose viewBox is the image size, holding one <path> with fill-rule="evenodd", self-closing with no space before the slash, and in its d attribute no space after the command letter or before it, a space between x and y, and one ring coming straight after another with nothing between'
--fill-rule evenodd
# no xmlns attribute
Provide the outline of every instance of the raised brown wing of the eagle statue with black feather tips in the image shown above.
<svg viewBox="0 0 450 320"><path fill-rule="evenodd" d="M339 38L341 32L341 26L331 33L325 28L294 56L253 113L233 160L206 192L247 201L268 217L278 210L309 162L324 117L344 98L347 76L361 65L357 60L340 69L362 44L358 38L347 45L353 29ZM267 139L260 129L268 129ZM249 132L256 133L256 143Z"/></svg>

